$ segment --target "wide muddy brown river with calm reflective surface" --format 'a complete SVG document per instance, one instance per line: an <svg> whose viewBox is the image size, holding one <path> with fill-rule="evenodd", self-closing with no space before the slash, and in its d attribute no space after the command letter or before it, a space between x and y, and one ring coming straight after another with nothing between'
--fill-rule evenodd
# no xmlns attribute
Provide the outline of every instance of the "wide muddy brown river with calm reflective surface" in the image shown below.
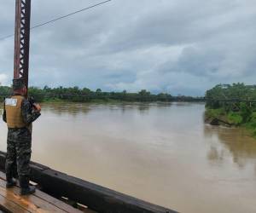
<svg viewBox="0 0 256 213"><path fill-rule="evenodd" d="M203 104L47 104L32 160L184 213L256 212L256 141ZM2 112L1 112L2 113ZM0 122L0 149L7 128Z"/></svg>

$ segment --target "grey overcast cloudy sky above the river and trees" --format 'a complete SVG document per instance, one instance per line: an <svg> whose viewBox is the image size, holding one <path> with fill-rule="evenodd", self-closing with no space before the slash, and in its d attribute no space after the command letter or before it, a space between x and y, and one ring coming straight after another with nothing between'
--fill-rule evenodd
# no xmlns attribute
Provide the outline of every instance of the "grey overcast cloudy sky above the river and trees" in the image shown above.
<svg viewBox="0 0 256 213"><path fill-rule="evenodd" d="M101 0L32 0L32 26ZM15 0L0 0L0 37ZM0 41L0 82L13 78L14 39ZM30 85L204 95L256 83L255 0L113 0L35 29Z"/></svg>

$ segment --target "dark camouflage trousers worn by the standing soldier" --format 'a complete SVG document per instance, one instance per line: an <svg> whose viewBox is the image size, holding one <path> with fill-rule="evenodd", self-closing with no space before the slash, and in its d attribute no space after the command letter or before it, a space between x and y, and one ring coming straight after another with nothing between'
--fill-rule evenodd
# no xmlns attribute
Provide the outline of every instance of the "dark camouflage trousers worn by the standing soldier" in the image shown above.
<svg viewBox="0 0 256 213"><path fill-rule="evenodd" d="M7 156L5 172L7 179L12 177L29 178L32 134L23 129L9 129L7 137Z"/></svg>

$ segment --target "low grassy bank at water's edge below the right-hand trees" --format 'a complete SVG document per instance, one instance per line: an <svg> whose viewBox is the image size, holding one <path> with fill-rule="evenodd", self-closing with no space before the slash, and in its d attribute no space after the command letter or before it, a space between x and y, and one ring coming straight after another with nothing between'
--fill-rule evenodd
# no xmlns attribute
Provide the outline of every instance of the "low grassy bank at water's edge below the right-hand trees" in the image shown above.
<svg viewBox="0 0 256 213"><path fill-rule="evenodd" d="M224 108L207 108L205 112L205 121L212 125L244 128L250 135L256 138L256 112L252 112L248 118L245 119L240 111L226 112Z"/></svg>

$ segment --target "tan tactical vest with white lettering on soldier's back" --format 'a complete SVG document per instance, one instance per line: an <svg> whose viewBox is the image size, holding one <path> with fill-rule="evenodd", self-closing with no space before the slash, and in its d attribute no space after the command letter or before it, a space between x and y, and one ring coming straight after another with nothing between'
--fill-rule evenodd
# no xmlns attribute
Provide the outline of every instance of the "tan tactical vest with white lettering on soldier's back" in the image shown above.
<svg viewBox="0 0 256 213"><path fill-rule="evenodd" d="M27 126L21 113L21 104L24 99L25 97L20 95L5 99L4 106L8 128L24 128Z"/></svg>

